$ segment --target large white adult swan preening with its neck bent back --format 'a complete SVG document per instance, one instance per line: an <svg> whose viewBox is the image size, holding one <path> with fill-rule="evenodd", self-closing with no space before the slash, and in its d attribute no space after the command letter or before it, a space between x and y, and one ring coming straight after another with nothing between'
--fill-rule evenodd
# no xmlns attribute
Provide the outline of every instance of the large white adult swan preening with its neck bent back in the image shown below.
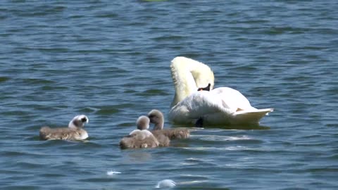
<svg viewBox="0 0 338 190"><path fill-rule="evenodd" d="M175 97L169 120L181 124L203 122L206 125L258 124L273 108L253 108L239 91L229 87L213 89L213 71L208 65L190 58L171 61ZM208 87L210 91L198 91ZM200 124L200 123L199 123Z"/></svg>

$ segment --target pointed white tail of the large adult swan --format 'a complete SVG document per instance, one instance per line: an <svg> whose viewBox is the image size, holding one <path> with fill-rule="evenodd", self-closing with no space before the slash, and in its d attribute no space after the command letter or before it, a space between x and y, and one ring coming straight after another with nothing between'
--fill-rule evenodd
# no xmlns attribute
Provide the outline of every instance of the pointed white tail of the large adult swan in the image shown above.
<svg viewBox="0 0 338 190"><path fill-rule="evenodd" d="M268 113L273 112L273 108L257 109L257 110L239 110L234 113L234 122L240 124L245 123L256 123Z"/></svg>

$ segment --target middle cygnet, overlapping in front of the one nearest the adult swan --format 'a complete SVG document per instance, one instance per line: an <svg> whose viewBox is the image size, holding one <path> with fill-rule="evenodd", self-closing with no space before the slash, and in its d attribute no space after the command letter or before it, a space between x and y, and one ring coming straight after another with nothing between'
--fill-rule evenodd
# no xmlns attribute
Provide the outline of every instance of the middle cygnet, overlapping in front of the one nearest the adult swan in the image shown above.
<svg viewBox="0 0 338 190"><path fill-rule="evenodd" d="M137 118L137 129L121 139L120 148L155 148L160 146L158 139L148 130L149 122L149 118L144 115Z"/></svg>

